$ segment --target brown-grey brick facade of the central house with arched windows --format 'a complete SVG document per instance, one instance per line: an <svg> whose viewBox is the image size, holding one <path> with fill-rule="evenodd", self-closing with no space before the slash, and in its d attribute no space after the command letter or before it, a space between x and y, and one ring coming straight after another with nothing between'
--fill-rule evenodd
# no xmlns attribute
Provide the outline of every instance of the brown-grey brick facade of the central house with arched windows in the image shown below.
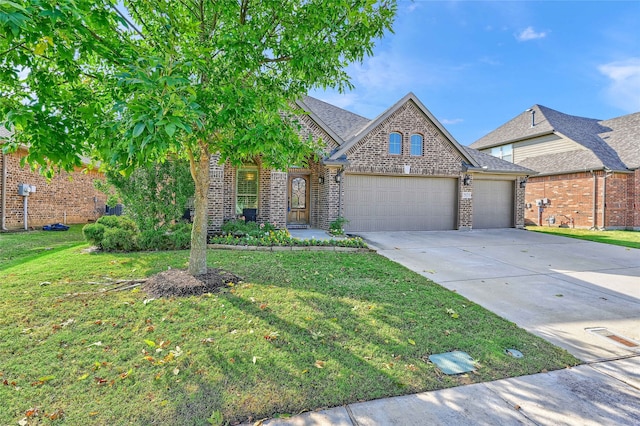
<svg viewBox="0 0 640 426"><path fill-rule="evenodd" d="M340 145L309 115L303 115L301 137L311 135L316 140L322 140L325 145L325 155L340 147ZM402 149L400 155L389 154L389 134L398 132L402 135ZM419 134L423 138L423 155L412 156L411 135ZM443 134L422 110L412 101L399 106L386 119L378 123L373 129L360 139L346 152L348 165L342 169L340 165L325 165L317 161L309 161L306 168L292 168L288 173L302 174L309 177L309 225L315 228L328 229L332 221L344 215L344 182L349 174L385 174L424 177L446 177L458 180L458 229L473 227L473 179L469 185L463 185L463 177L467 174L462 170L462 163L467 159L461 154L447 135ZM212 160L217 164L217 159ZM284 228L288 212L288 174L263 168L259 161L256 163L259 174L259 206L258 222L272 222ZM210 218L210 231L220 229L222 220L237 217L236 204L236 173L237 170L229 164L215 166L217 179L222 179L220 186L210 191L210 200L223 200L223 204L211 212L216 212L215 218ZM213 168L215 168L212 166ZM342 182L336 182L336 175L342 174ZM221 177L220 177L221 176ZM320 183L320 177L323 183ZM515 177L514 185L516 185ZM213 180L213 175L212 175ZM212 183L212 187L213 187ZM463 197L471 194L471 198ZM524 226L523 200L524 189L516 185L516 227ZM217 201L214 201L217 203Z"/></svg>

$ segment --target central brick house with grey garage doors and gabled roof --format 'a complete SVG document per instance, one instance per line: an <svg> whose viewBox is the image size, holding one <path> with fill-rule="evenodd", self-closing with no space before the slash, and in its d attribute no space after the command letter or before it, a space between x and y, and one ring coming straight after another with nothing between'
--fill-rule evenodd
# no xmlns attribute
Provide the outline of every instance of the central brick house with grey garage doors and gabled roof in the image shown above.
<svg viewBox="0 0 640 426"><path fill-rule="evenodd" d="M409 93L374 120L312 97L298 106L302 136L326 145L323 158L287 171L260 159L234 168L210 162L210 231L241 215L284 227L347 231L524 226L531 170L461 146Z"/></svg>

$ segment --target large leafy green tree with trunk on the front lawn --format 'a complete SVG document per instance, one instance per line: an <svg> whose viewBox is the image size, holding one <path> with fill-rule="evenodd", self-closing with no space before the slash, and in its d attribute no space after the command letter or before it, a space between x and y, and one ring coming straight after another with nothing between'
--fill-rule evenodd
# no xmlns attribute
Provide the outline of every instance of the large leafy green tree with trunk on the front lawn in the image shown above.
<svg viewBox="0 0 640 426"><path fill-rule="evenodd" d="M189 272L206 271L209 160L302 162L293 101L351 87L345 67L391 30L395 0L0 0L7 148L49 171L82 155L123 172L189 159Z"/></svg>

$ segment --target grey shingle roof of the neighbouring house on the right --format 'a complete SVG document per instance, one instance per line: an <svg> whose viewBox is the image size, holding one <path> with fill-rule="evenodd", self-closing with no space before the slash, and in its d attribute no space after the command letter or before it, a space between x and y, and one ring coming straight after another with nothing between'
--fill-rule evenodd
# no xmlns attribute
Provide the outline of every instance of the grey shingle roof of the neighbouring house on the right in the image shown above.
<svg viewBox="0 0 640 426"><path fill-rule="evenodd" d="M470 146L476 149L484 149L544 134L557 133L587 148L590 154L578 154L578 151L574 156L554 154L565 159L564 167L562 167L562 163L559 160L552 158L526 159L524 160L526 163L523 161L520 164L533 168L540 173L603 167L611 170L627 169L627 164L620 158L616 149L603 138L604 135L612 135L614 130L606 124L606 121L568 115L542 105L534 105L531 110L535 112L535 125L533 127L531 126L531 113L525 111L488 135L478 139ZM611 121L609 120L609 122ZM632 134L633 122L627 123L627 121L624 121L624 124L621 127L626 129L625 133ZM635 126L637 138L637 123ZM620 145L622 146L625 143L633 144L633 142L620 142ZM538 168L532 167L534 164Z"/></svg>

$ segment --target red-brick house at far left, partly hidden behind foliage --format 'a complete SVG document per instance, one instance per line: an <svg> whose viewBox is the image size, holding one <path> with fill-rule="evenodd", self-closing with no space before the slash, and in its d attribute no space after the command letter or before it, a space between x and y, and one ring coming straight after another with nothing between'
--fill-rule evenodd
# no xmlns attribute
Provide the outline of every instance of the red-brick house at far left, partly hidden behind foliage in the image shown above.
<svg viewBox="0 0 640 426"><path fill-rule="evenodd" d="M0 148L11 133L0 126ZM47 181L29 166L21 167L25 149L0 155L0 218L1 229L24 229L25 198L27 199L27 227L41 227L50 223L87 223L104 213L106 196L93 186L104 175L95 170L76 169L73 173L58 173ZM21 185L29 185L28 196L20 195Z"/></svg>

